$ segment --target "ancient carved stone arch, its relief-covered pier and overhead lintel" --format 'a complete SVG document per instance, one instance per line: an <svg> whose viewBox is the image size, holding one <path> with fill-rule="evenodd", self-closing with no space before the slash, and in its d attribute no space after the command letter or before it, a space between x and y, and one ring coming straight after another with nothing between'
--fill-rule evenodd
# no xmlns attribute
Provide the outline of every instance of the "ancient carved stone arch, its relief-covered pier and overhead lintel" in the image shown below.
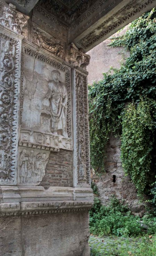
<svg viewBox="0 0 156 256"><path fill-rule="evenodd" d="M86 54L154 0L0 0L5 256L89 256Z"/></svg>

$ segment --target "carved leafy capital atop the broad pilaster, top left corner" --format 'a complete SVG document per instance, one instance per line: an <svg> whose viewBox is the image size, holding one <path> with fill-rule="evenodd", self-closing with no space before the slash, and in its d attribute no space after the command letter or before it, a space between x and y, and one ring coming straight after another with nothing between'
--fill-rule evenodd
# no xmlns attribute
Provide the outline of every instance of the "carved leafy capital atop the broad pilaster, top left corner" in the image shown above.
<svg viewBox="0 0 156 256"><path fill-rule="evenodd" d="M5 6L0 0L0 24L15 33L21 34L22 27L27 24L28 17L16 11L16 6L9 4Z"/></svg>

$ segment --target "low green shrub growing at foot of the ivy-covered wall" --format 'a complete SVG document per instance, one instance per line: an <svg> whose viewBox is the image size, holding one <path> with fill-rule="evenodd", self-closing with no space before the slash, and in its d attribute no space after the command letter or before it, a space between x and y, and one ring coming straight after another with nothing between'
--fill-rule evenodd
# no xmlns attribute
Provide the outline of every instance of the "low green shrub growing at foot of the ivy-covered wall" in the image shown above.
<svg viewBox="0 0 156 256"><path fill-rule="evenodd" d="M108 206L95 198L90 211L90 232L94 235L138 236L142 233L139 217L134 217L124 203L114 196Z"/></svg>

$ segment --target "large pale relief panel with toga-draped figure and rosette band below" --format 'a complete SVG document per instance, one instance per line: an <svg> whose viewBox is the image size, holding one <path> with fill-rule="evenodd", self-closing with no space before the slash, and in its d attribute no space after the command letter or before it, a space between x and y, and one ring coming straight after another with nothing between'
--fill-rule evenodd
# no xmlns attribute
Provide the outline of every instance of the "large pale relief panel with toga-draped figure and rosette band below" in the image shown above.
<svg viewBox="0 0 156 256"><path fill-rule="evenodd" d="M65 71L24 55L20 146L72 150L69 81Z"/></svg>

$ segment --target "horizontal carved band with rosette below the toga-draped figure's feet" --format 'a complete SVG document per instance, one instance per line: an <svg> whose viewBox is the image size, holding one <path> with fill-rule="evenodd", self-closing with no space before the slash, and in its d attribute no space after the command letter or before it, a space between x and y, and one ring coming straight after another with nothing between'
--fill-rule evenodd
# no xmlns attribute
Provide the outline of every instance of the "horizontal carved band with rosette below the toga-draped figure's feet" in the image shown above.
<svg viewBox="0 0 156 256"><path fill-rule="evenodd" d="M72 150L72 140L51 133L20 129L19 146L59 152L60 149Z"/></svg>

